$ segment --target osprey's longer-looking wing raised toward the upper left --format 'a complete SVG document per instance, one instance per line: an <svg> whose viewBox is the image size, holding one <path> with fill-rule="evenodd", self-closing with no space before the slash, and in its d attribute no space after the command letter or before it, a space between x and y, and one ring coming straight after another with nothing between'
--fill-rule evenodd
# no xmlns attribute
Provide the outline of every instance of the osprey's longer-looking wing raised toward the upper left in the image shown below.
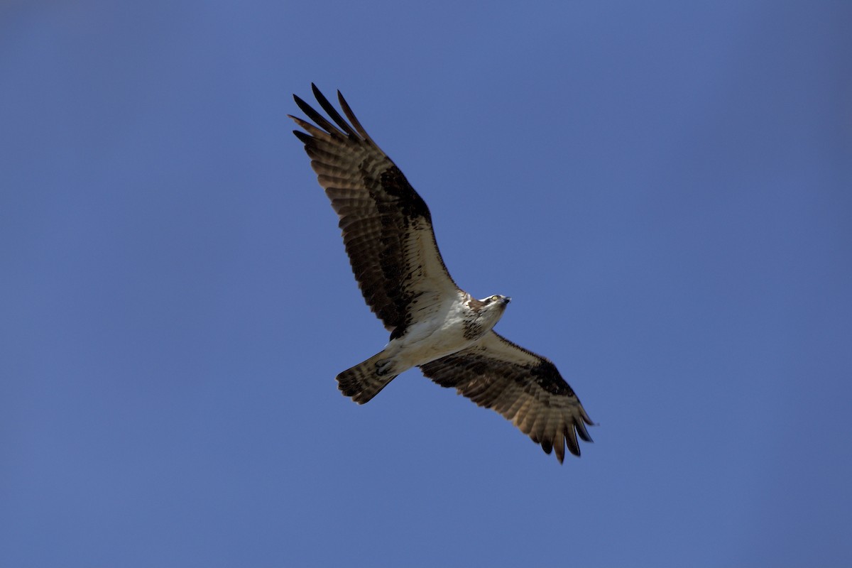
<svg viewBox="0 0 852 568"><path fill-rule="evenodd" d="M434 305L458 286L440 258L429 208L406 176L372 141L340 91L348 122L320 93L314 96L334 124L296 95L308 118L290 117L305 144L320 186L340 217L343 243L355 279L371 310L392 337L401 336L412 312Z"/></svg>

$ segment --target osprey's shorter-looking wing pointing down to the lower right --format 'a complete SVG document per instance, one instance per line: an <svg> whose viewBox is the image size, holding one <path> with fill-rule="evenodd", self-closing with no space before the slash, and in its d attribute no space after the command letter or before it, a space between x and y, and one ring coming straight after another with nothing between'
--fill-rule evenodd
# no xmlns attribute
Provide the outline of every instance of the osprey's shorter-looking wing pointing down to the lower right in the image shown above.
<svg viewBox="0 0 852 568"><path fill-rule="evenodd" d="M497 410L561 463L565 445L580 455L577 434L593 425L556 365L493 331L473 347L420 365L441 387L453 387L480 406ZM585 424L584 424L585 422Z"/></svg>

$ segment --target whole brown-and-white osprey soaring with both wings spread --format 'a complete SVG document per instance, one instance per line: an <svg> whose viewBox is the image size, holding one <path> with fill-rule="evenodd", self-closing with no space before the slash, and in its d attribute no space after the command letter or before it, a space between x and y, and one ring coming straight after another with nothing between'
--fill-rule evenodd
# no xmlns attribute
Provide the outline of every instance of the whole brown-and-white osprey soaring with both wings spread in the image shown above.
<svg viewBox="0 0 852 568"><path fill-rule="evenodd" d="M345 120L312 83L332 124L296 95L315 125L290 116L320 186L340 218L343 243L367 305L390 332L388 345L337 376L340 390L364 404L405 370L419 367L441 387L497 410L559 462L591 419L556 366L495 333L509 297L477 300L450 277L429 208L382 152L340 91Z"/></svg>

